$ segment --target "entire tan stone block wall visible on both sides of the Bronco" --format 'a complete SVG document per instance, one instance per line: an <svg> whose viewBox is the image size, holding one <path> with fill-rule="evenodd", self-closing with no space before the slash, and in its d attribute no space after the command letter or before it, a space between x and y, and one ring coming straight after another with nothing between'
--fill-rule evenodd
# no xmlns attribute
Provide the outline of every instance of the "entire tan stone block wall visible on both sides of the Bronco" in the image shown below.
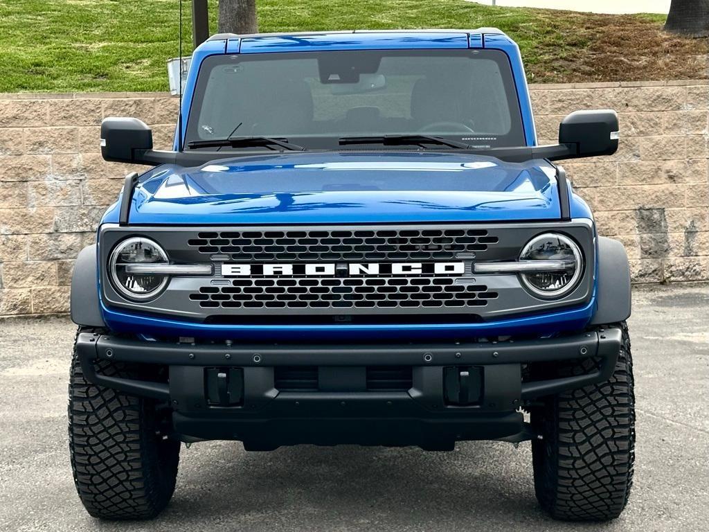
<svg viewBox="0 0 709 532"><path fill-rule="evenodd" d="M553 143L577 109L616 109L613 157L564 164L601 234L622 240L637 283L709 280L709 82L532 85ZM99 125L135 116L172 144L168 94L0 94L0 318L68 311L74 257L94 241L126 173L104 162ZM144 169L145 167L143 167Z"/></svg>

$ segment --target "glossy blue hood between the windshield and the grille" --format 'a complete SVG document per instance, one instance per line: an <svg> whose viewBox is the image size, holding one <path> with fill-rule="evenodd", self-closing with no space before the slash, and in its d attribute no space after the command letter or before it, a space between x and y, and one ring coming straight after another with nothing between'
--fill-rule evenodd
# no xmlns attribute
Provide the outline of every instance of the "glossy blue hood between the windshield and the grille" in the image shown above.
<svg viewBox="0 0 709 532"><path fill-rule="evenodd" d="M116 207L105 221L112 221ZM555 170L459 153L274 153L140 179L130 223L286 224L559 218Z"/></svg>

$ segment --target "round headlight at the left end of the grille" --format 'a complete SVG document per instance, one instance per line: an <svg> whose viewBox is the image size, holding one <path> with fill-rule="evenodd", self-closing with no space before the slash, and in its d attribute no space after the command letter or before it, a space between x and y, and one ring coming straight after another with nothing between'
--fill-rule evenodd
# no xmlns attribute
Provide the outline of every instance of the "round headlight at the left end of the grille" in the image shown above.
<svg viewBox="0 0 709 532"><path fill-rule="evenodd" d="M141 274L128 271L134 264L167 264L167 253L157 243L136 236L118 243L111 252L108 268L111 282L128 299L145 301L157 296L168 281L166 275Z"/></svg>

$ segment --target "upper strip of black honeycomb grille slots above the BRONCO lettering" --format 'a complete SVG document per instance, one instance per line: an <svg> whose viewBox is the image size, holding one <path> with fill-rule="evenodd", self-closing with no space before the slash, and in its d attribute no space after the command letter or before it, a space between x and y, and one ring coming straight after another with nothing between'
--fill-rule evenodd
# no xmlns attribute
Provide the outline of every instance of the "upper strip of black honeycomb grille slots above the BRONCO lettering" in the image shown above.
<svg viewBox="0 0 709 532"><path fill-rule="evenodd" d="M486 251L498 238L485 229L387 229L202 232L190 248L229 260L433 260Z"/></svg>

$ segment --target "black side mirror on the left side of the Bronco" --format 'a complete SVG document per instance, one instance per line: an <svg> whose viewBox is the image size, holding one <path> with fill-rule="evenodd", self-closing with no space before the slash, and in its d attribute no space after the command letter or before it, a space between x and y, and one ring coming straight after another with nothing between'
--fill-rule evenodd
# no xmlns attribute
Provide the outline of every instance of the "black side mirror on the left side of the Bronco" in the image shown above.
<svg viewBox="0 0 709 532"><path fill-rule="evenodd" d="M111 162L140 162L152 150L152 130L138 118L104 118L101 122L101 155Z"/></svg>

